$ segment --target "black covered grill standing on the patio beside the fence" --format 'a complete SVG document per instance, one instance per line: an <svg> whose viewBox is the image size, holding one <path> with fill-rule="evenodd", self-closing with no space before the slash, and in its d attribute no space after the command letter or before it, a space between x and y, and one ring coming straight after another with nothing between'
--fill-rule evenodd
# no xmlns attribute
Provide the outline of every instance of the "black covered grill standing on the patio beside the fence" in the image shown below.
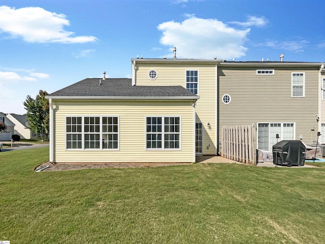
<svg viewBox="0 0 325 244"><path fill-rule="evenodd" d="M273 164L286 166L303 166L305 164L306 147L300 140L283 140L272 147Z"/></svg>

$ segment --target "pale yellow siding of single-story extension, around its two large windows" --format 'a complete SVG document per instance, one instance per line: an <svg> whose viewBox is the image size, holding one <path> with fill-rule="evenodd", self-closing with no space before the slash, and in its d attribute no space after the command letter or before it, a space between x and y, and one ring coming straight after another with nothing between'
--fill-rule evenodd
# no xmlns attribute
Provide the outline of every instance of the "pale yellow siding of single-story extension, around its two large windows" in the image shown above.
<svg viewBox="0 0 325 244"><path fill-rule="evenodd" d="M193 107L187 102L53 101L54 162L192 162ZM119 150L66 150L65 116L119 115ZM181 150L146 150L146 116L181 116Z"/></svg>

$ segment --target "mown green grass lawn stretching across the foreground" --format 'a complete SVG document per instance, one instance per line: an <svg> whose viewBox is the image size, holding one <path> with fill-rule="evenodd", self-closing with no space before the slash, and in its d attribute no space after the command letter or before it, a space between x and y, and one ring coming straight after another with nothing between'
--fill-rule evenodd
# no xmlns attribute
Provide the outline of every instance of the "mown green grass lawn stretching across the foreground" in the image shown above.
<svg viewBox="0 0 325 244"><path fill-rule="evenodd" d="M325 243L325 169L191 164L43 171L48 148L0 153L0 240Z"/></svg>

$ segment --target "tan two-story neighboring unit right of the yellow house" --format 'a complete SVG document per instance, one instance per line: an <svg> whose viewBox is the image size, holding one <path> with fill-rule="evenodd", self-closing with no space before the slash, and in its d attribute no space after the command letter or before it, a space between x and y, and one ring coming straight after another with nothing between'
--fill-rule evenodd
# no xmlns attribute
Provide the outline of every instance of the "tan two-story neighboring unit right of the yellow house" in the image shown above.
<svg viewBox="0 0 325 244"><path fill-rule="evenodd" d="M219 128L254 124L257 148L281 140L317 140L320 63L224 62L218 65ZM320 138L319 138L320 139Z"/></svg>

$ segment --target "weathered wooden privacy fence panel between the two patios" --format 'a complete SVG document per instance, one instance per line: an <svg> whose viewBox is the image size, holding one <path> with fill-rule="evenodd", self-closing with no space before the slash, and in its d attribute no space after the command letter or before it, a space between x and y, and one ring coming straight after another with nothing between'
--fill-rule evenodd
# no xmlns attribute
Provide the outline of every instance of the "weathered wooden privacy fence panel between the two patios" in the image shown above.
<svg viewBox="0 0 325 244"><path fill-rule="evenodd" d="M221 157L256 165L256 128L222 126Z"/></svg>

